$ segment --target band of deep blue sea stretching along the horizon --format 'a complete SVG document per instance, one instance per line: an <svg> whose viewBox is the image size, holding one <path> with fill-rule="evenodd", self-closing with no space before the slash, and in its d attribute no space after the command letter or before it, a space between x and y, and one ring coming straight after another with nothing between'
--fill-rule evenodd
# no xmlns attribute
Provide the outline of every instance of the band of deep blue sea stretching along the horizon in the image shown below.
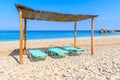
<svg viewBox="0 0 120 80"><path fill-rule="evenodd" d="M100 34L98 30L94 31L95 36L120 36L120 32ZM90 30L77 31L77 37L91 36ZM55 39L55 38L72 38L74 31L27 31L27 40L35 39ZM1 41L14 41L19 40L19 31L0 31Z"/></svg>

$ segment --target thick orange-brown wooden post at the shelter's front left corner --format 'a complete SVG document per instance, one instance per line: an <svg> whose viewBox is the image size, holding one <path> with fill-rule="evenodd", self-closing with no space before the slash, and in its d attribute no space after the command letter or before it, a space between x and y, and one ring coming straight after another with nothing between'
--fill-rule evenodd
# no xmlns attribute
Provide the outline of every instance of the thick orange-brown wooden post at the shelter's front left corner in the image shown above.
<svg viewBox="0 0 120 80"><path fill-rule="evenodd" d="M23 29L22 29L22 11L19 11L20 19L20 64L23 64Z"/></svg>

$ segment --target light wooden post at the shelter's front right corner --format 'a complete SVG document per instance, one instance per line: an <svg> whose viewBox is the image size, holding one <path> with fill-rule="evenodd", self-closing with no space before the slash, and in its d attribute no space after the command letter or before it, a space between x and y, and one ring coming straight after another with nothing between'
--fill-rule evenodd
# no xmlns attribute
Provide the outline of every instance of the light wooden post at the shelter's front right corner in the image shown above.
<svg viewBox="0 0 120 80"><path fill-rule="evenodd" d="M91 20L91 54L94 54L94 17Z"/></svg>

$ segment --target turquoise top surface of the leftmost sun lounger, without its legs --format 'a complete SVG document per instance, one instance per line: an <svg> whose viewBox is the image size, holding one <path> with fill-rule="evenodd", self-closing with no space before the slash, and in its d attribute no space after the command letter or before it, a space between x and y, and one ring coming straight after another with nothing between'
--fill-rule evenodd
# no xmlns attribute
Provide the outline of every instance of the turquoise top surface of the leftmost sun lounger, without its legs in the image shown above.
<svg viewBox="0 0 120 80"><path fill-rule="evenodd" d="M34 57L44 57L46 56L47 54L44 53L43 51L41 50L37 50L37 49L33 49L33 50L28 50L29 53L34 56Z"/></svg>

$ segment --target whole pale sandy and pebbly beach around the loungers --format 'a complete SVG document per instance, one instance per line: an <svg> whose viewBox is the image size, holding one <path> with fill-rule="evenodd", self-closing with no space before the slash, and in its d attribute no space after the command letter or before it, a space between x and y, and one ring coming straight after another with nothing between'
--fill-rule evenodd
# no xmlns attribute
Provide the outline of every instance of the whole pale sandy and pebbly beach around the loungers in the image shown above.
<svg viewBox="0 0 120 80"><path fill-rule="evenodd" d="M95 37L94 55L91 38L77 38L77 47L86 50L78 56L31 62L24 55L20 65L19 41L0 42L0 80L120 80L120 36ZM27 48L73 46L73 38L28 40ZM19 52L15 53L19 54Z"/></svg>

